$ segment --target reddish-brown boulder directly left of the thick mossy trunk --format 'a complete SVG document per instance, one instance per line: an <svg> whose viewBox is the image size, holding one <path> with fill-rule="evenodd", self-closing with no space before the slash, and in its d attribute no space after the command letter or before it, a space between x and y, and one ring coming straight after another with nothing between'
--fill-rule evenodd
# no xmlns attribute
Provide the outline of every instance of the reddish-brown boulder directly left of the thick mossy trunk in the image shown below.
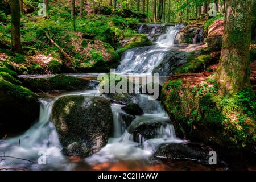
<svg viewBox="0 0 256 182"><path fill-rule="evenodd" d="M207 44L212 50L220 50L224 32L224 20L217 20L208 28Z"/></svg>

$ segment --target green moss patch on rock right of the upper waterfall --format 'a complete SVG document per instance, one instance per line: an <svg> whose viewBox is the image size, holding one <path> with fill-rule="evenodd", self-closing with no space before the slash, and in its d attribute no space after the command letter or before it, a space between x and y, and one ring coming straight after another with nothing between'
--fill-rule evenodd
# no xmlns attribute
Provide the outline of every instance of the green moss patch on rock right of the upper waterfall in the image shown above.
<svg viewBox="0 0 256 182"><path fill-rule="evenodd" d="M207 68L207 65L212 61L212 56L210 55L200 55L196 57L194 53L190 53L186 63L177 67L174 70L175 74L181 73L198 73L204 71Z"/></svg>

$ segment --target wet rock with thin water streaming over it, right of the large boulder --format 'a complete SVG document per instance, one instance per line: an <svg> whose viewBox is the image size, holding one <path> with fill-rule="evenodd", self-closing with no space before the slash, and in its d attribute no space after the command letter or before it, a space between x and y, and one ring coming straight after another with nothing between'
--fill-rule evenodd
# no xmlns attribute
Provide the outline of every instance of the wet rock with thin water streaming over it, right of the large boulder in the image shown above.
<svg viewBox="0 0 256 182"><path fill-rule="evenodd" d="M133 135L134 142L143 143L145 140L155 138L158 130L166 123L160 121L135 121L127 129Z"/></svg>

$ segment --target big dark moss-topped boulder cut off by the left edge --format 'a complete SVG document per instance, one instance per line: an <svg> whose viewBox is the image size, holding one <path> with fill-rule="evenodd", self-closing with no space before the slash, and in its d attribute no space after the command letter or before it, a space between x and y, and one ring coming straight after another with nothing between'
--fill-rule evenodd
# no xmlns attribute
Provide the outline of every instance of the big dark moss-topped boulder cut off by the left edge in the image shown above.
<svg viewBox="0 0 256 182"><path fill-rule="evenodd" d="M18 80L10 75L7 80ZM30 90L15 85L0 76L0 137L27 130L39 117L40 104Z"/></svg>

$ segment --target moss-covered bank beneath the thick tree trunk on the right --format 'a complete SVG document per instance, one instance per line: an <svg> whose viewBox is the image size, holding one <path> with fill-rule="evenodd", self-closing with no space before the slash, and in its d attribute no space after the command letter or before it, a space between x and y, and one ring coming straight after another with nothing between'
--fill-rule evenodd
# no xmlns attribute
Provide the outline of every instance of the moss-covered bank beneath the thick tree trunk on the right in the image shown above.
<svg viewBox="0 0 256 182"><path fill-rule="evenodd" d="M168 81L162 92L162 104L178 134L226 150L253 150L255 103L246 90L220 96L214 76L192 87L181 80Z"/></svg>

